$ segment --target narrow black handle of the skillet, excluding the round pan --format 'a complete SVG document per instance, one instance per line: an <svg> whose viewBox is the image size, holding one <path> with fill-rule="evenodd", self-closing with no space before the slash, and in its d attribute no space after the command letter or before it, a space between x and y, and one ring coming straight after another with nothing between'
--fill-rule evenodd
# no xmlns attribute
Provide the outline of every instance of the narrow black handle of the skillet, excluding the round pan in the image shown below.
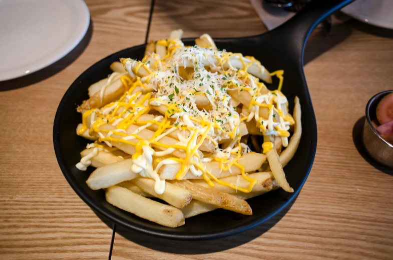
<svg viewBox="0 0 393 260"><path fill-rule="evenodd" d="M341 9L353 0L312 0L290 20L279 26L287 39L303 56L304 46L311 31L325 17ZM278 29L278 28L277 28Z"/></svg>

